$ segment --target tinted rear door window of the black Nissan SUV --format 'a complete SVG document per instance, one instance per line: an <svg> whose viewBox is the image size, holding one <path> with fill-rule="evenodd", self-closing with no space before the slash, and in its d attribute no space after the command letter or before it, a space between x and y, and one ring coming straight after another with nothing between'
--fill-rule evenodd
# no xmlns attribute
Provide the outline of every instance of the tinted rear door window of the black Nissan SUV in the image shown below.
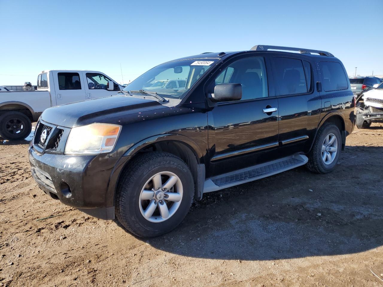
<svg viewBox="0 0 383 287"><path fill-rule="evenodd" d="M275 82L279 90L277 96L303 94L309 91L307 82L311 82L311 75L310 79L306 80L306 73L301 60L273 57L273 62ZM309 70L311 73L311 68Z"/></svg>

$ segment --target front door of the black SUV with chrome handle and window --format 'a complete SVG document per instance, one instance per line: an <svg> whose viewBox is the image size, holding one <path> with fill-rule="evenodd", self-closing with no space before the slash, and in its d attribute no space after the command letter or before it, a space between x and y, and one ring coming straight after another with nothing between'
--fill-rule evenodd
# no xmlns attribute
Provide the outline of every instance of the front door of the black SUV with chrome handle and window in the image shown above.
<svg viewBox="0 0 383 287"><path fill-rule="evenodd" d="M266 64L265 57L236 57L208 83L210 93L220 83L242 85L240 101L218 103L208 112L210 176L275 159L278 100L268 88Z"/></svg>

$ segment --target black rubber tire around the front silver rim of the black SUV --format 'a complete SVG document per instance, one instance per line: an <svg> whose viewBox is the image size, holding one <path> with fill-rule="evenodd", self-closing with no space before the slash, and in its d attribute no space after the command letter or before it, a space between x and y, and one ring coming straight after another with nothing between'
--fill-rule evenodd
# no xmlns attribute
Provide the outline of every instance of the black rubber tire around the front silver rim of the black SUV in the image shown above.
<svg viewBox="0 0 383 287"><path fill-rule="evenodd" d="M150 222L140 211L140 193L154 175L169 171L178 176L183 196L175 213L163 222ZM116 218L129 232L140 237L155 237L176 228L187 215L194 195L190 169L180 158L166 152L150 152L138 157L123 172L116 191Z"/></svg>

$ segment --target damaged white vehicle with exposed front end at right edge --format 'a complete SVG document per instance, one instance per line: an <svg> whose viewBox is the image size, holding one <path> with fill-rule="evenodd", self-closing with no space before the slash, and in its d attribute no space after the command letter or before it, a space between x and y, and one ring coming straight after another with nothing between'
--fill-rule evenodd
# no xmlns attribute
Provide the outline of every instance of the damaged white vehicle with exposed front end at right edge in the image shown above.
<svg viewBox="0 0 383 287"><path fill-rule="evenodd" d="M356 126L367 129L372 121L383 120L383 83L362 94L357 102Z"/></svg>

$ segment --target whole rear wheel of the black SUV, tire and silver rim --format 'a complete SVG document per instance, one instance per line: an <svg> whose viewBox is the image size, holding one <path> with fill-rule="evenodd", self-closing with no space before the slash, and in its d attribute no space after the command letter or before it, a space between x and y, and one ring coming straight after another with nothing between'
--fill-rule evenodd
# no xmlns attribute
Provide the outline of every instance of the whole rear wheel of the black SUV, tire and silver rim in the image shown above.
<svg viewBox="0 0 383 287"><path fill-rule="evenodd" d="M321 126L309 153L307 168L315 173L332 171L340 155L342 138L338 127L327 123Z"/></svg>

